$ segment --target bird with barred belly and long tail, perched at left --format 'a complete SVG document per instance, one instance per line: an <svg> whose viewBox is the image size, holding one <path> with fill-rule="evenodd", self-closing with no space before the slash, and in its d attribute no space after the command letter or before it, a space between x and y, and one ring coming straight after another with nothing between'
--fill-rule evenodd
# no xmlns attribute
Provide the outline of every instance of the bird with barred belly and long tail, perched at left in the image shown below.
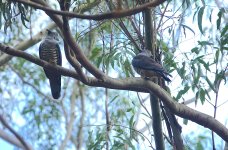
<svg viewBox="0 0 228 150"><path fill-rule="evenodd" d="M47 35L39 46L39 57L53 65L62 66L62 54L59 47L58 33L47 30ZM46 77L49 79L52 97L58 99L61 92L61 74L43 68Z"/></svg>

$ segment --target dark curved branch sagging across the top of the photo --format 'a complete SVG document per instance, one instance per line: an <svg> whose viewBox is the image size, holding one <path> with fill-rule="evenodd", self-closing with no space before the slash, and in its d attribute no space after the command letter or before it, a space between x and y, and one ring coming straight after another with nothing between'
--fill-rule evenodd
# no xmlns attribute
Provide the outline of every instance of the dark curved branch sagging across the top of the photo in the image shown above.
<svg viewBox="0 0 228 150"><path fill-rule="evenodd" d="M18 3L23 3L25 5L29 5L31 7L41 9L47 13L53 13L53 14L58 14L62 16L68 16L72 18L80 18L80 19L89 19L89 20L104 20L104 19L115 19L115 18L122 18L130 15L137 14L143 10L145 10L148 7L155 7L166 0L154 0L152 2L148 2L146 4L140 5L138 7L132 8L132 9L127 9L127 10L116 10L108 13L103 13L103 14L98 14L98 15L83 15L83 14L78 14L78 13L73 13L73 12L68 12L68 11L58 11L51 9L47 6L40 5L36 2L32 1L27 1L27 0L13 0Z"/></svg>

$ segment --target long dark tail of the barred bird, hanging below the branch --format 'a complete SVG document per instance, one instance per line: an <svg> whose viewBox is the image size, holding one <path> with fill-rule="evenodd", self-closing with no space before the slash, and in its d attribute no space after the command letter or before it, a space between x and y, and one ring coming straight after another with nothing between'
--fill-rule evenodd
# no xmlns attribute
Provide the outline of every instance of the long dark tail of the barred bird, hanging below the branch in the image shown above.
<svg viewBox="0 0 228 150"><path fill-rule="evenodd" d="M60 97L61 92L61 76L49 79L51 86L51 94L54 99L58 99Z"/></svg>

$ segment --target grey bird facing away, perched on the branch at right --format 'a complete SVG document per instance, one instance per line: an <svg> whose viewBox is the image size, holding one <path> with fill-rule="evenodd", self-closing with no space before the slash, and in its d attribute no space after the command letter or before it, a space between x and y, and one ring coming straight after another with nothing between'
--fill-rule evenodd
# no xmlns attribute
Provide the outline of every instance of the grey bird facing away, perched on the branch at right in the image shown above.
<svg viewBox="0 0 228 150"><path fill-rule="evenodd" d="M172 76L162 67L161 64L157 63L150 56L151 54L147 50L143 50L141 53L136 55L132 60L132 66L135 71L145 78L160 75L166 81L170 82L171 80L168 76Z"/></svg>

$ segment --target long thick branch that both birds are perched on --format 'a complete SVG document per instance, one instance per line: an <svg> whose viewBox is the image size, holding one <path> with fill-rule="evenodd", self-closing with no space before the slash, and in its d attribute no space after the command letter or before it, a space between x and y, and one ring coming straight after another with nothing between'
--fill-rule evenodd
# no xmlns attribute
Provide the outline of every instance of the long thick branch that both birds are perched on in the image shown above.
<svg viewBox="0 0 228 150"><path fill-rule="evenodd" d="M60 74L64 76L69 76L77 80L80 80L76 72L60 66L53 66L23 51L15 50L1 43L0 50L10 55L22 57L44 68L51 69L53 71L58 71ZM129 90L137 92L151 91L156 96L158 96L167 105L167 107L169 107L170 111L172 111L176 115L185 119L189 119L193 122L196 122L197 124L200 124L206 128L213 130L222 139L228 142L228 129L223 124L221 124L219 121L217 121L216 119L207 114L189 108L188 106L185 106L183 104L177 103L174 99L172 99L170 94L163 90L159 85L156 85L155 83L149 80L145 80L142 78L114 79L108 76L104 76L103 80L88 77L88 81L83 83L88 86L105 87L109 89Z"/></svg>

